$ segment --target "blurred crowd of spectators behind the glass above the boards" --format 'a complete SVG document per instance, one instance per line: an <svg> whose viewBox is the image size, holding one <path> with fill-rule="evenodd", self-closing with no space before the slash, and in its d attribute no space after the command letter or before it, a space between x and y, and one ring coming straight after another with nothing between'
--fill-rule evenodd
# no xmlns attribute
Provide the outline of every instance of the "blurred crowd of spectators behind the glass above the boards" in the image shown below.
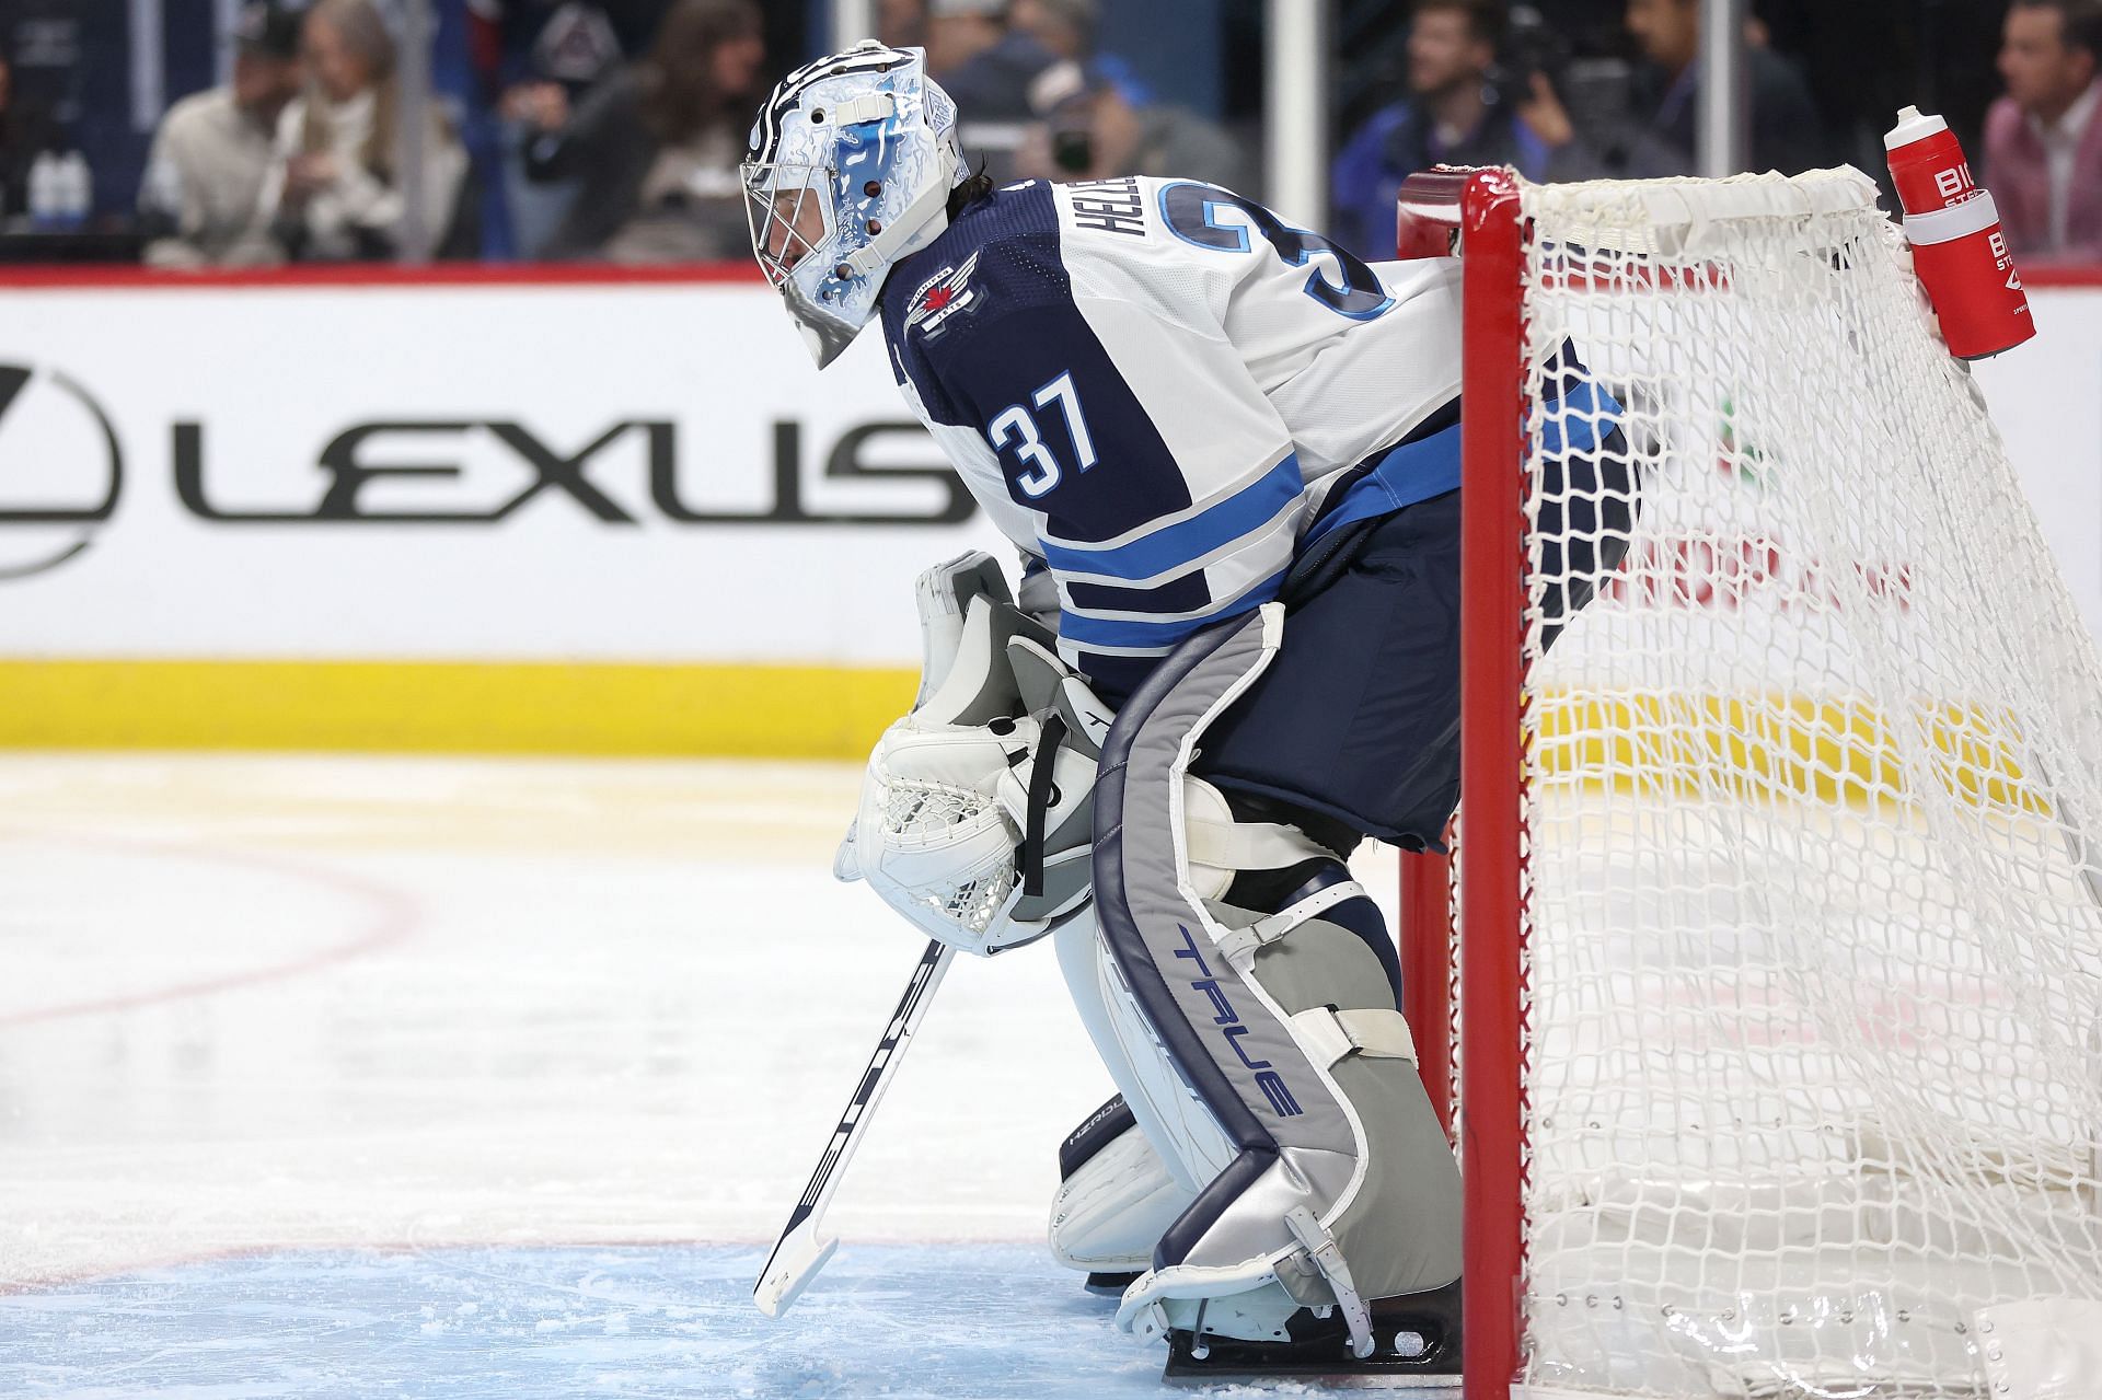
<svg viewBox="0 0 2102 1400"><path fill-rule="evenodd" d="M744 256L738 160L750 111L822 48L826 13L822 0L431 0L437 29L410 57L439 101L410 111L393 0L183 11L189 2L162 0L170 15L208 13L183 23L208 23L212 50L200 57L189 36L189 63L177 63L170 17L172 101L141 111L160 95L141 92L130 63L132 120L109 122L116 97L92 76L107 53L90 42L90 11L105 0L0 0L0 256L158 267ZM1438 162L1511 164L1537 181L1696 168L1701 0L1331 2L1331 231L1345 246L1377 256L1400 181ZM1116 44L1158 32L1112 23L1129 19L1118 6L1141 4L879 0L877 25L891 44L927 48L967 149L996 179L1181 174L1261 191L1261 109L1249 95L1261 36L1253 63L1246 44L1238 59L1232 42L1204 50L1198 61L1225 71L1192 88L1179 71L1190 50ZM1192 4L1209 4L1221 29L1246 32L1251 13L1259 27L1255 0L1181 8ZM1835 69L1831 50L1860 40L1833 32L1831 15L1877 6L1894 17L1890 34L1909 38L1877 44L1888 63L1856 48ZM1995 29L1949 27L1944 0L1822 11L1753 0L1751 168L1877 170L1877 128L1896 105L1879 103L1946 84L2016 250L2102 256L2102 0L1953 11ZM1938 42L1915 34L1936 15L1949 27ZM1841 90L1843 63L1869 86L1871 74L1913 71L1885 74L1892 92L1862 105ZM1997 86L1980 90L1978 111L1955 109L1967 88L1953 69Z"/></svg>

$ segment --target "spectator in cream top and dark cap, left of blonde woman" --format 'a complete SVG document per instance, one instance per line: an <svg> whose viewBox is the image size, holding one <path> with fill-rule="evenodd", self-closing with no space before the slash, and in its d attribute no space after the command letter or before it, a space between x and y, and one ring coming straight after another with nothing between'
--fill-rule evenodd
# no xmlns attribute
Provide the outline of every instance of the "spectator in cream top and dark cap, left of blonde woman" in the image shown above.
<svg viewBox="0 0 2102 1400"><path fill-rule="evenodd" d="M250 0L233 21L233 80L193 92L160 120L139 214L158 233L153 267L277 263L259 214L277 118L298 95L298 15Z"/></svg>

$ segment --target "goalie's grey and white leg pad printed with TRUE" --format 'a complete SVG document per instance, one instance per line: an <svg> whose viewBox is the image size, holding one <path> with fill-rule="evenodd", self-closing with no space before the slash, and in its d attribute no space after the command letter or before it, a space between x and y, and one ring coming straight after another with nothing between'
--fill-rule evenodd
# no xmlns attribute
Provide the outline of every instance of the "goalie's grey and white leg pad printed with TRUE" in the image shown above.
<svg viewBox="0 0 2102 1400"><path fill-rule="evenodd" d="M1171 654L1118 715L1097 784L1104 946L1232 1160L1160 1238L1118 1322L1175 1326L1165 1303L1272 1284L1339 1303L1371 1345L1368 1299L1461 1272L1459 1171L1415 1070L1387 967L1316 889L1282 912L1236 910L1192 870L1188 767L1204 729L1255 683L1282 610ZM1207 845L1198 841L1196 845Z"/></svg>

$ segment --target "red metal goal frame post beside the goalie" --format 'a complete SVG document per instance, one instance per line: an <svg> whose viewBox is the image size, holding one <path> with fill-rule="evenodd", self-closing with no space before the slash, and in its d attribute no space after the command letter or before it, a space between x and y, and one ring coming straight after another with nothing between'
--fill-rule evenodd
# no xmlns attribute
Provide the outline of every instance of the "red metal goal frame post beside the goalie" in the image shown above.
<svg viewBox="0 0 2102 1400"><path fill-rule="evenodd" d="M1400 191L1402 259L1461 252L1461 1104L1455 1125L1446 856L1402 856L1404 1013L1465 1177L1465 1396L1507 1400L1524 1282L1524 219L1509 170L1440 168Z"/></svg>

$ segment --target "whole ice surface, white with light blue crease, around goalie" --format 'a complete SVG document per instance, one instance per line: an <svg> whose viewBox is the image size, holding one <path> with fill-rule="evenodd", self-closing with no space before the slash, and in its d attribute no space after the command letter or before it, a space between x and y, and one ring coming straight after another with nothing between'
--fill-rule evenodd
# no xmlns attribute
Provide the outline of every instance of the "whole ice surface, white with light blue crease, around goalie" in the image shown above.
<svg viewBox="0 0 2102 1400"><path fill-rule="evenodd" d="M1049 948L959 963L753 1310L921 948L856 786L0 757L0 1396L1160 1394L1040 1244L1110 1093Z"/></svg>

